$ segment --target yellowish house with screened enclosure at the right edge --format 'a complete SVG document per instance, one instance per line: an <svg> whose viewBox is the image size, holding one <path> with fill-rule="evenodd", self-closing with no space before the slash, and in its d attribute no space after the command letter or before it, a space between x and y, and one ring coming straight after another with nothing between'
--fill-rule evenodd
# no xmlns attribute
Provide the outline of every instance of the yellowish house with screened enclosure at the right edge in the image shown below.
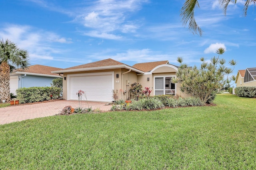
<svg viewBox="0 0 256 170"><path fill-rule="evenodd" d="M256 68L246 68L246 70L238 70L235 83L236 87L256 86Z"/></svg>

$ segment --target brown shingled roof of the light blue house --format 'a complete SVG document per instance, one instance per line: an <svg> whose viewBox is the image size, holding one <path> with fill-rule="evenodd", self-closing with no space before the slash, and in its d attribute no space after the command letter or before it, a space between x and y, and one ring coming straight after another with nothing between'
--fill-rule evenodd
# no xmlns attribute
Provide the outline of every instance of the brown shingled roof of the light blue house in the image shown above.
<svg viewBox="0 0 256 170"><path fill-rule="evenodd" d="M61 70L61 69L62 68L56 68L56 67L43 66L43 65L36 64L36 65L29 66L29 68L26 70L17 69L17 70L14 70L14 72L24 72L24 73L59 76L59 74L52 73L52 71Z"/></svg>

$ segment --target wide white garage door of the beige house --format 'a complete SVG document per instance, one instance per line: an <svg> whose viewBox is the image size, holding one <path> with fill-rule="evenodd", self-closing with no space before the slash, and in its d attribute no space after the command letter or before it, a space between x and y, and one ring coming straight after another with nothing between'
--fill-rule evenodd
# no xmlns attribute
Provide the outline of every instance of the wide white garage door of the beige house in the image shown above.
<svg viewBox="0 0 256 170"><path fill-rule="evenodd" d="M86 93L88 101L112 101L114 72L68 75L68 100L78 100L78 90ZM82 100L86 100L83 96Z"/></svg>

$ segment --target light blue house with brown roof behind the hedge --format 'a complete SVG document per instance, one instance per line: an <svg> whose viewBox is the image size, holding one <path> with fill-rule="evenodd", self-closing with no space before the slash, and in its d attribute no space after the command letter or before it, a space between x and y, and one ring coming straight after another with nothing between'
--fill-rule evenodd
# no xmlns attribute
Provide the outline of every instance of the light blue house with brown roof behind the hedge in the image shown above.
<svg viewBox="0 0 256 170"><path fill-rule="evenodd" d="M45 87L51 86L54 78L62 78L59 74L51 71L61 68L32 65L26 70L17 69L10 74L10 93L16 95L16 90L23 87Z"/></svg>

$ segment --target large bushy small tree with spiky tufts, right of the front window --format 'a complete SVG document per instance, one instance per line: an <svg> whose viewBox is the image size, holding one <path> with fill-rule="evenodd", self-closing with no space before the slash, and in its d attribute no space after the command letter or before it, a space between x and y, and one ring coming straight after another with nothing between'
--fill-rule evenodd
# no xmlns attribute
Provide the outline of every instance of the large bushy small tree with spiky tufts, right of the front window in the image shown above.
<svg viewBox="0 0 256 170"><path fill-rule="evenodd" d="M178 57L177 61L180 63L180 67L178 72L176 72L176 78L172 78L172 83L180 83L180 90L182 92L200 98L203 103L212 102L218 90L236 79L235 76L229 77L229 74L233 72L237 62L231 60L229 64L233 68L226 67L226 60L220 59L220 55L224 52L223 48L219 48L216 51L218 57L212 57L210 62L206 62L202 57L200 68L182 64L183 59Z"/></svg>

